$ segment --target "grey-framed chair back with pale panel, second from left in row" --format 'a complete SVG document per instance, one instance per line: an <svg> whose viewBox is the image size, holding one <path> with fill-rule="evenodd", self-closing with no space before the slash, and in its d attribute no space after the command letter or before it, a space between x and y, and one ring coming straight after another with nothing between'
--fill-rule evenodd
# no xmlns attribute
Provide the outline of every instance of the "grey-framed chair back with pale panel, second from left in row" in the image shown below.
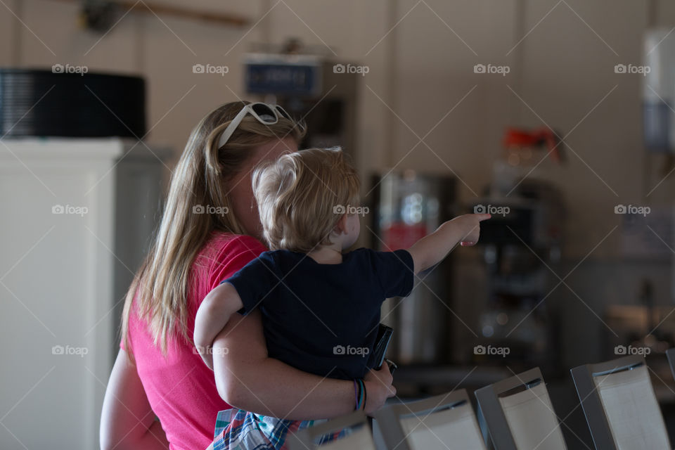
<svg viewBox="0 0 675 450"><path fill-rule="evenodd" d="M388 450L485 450L466 390L385 406L375 421Z"/></svg>

